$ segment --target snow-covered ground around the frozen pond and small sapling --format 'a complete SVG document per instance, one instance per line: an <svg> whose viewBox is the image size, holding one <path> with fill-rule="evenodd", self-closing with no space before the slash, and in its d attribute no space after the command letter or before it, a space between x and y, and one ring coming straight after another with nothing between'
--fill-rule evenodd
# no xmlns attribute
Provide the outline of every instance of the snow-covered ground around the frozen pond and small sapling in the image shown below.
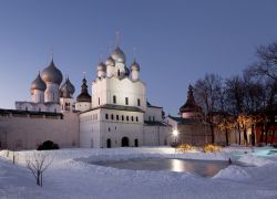
<svg viewBox="0 0 277 199"><path fill-rule="evenodd" d="M53 158L35 185L25 167L32 150L16 154L17 164L0 151L0 198L277 198L277 154L270 148L228 147L222 153L176 154L173 148L61 149L43 151ZM98 160L167 157L184 159L237 159L255 167L230 165L213 178L188 172L123 170L88 164ZM8 159L12 158L9 153Z"/></svg>

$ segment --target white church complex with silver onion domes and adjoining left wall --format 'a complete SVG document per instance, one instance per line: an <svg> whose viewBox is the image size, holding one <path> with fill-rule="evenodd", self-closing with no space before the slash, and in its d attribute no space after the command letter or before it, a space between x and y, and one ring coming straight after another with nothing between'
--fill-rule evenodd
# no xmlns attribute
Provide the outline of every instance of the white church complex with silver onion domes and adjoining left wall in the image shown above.
<svg viewBox="0 0 277 199"><path fill-rule="evenodd" d="M170 145L172 129L163 108L146 101L146 85L134 60L126 65L117 46L105 63L96 65L81 94L55 66L53 59L31 83L31 102L16 102L16 109L0 109L0 148L32 149L45 140L60 147L138 147Z"/></svg>

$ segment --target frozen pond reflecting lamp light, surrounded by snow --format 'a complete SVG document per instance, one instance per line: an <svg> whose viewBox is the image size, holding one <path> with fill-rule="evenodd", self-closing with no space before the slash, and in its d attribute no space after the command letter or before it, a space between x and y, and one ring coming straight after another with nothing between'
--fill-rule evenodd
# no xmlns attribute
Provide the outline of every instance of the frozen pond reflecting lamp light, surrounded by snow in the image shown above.
<svg viewBox="0 0 277 199"><path fill-rule="evenodd" d="M93 165L132 170L167 170L175 172L194 172L203 177L213 177L220 169L229 166L228 161L220 160L194 160L194 159L170 159L146 158L129 159L121 161L96 161ZM236 164L237 165L237 164Z"/></svg>

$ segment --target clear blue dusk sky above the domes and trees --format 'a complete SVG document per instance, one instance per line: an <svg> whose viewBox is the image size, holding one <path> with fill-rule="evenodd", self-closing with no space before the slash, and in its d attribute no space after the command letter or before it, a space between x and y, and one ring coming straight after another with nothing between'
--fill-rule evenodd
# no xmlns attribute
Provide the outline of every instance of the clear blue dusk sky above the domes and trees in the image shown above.
<svg viewBox="0 0 277 199"><path fill-rule="evenodd" d="M240 74L255 49L277 41L276 0L1 0L0 108L30 101L30 84L50 63L80 93L109 46L141 65L147 98L177 115L187 86L206 73ZM110 44L109 44L110 43ZM91 92L91 86L90 92Z"/></svg>

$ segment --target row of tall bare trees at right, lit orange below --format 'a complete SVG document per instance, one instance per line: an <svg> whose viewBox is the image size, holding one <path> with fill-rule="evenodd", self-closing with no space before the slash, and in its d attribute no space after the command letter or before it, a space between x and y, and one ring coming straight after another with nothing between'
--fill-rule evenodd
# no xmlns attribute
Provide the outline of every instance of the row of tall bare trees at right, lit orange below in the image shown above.
<svg viewBox="0 0 277 199"><path fill-rule="evenodd" d="M246 67L240 75L223 78L217 74L206 74L194 85L195 100L203 107L205 122L209 125L212 142L215 142L215 128L226 134L236 132L237 144L266 144L268 129L275 123L271 112L277 105L277 42L260 45L256 50L256 62ZM261 134L255 138L255 128ZM233 130L230 130L233 129ZM252 129L250 140L247 130ZM243 140L242 140L243 137ZM244 142L244 143L243 143Z"/></svg>

